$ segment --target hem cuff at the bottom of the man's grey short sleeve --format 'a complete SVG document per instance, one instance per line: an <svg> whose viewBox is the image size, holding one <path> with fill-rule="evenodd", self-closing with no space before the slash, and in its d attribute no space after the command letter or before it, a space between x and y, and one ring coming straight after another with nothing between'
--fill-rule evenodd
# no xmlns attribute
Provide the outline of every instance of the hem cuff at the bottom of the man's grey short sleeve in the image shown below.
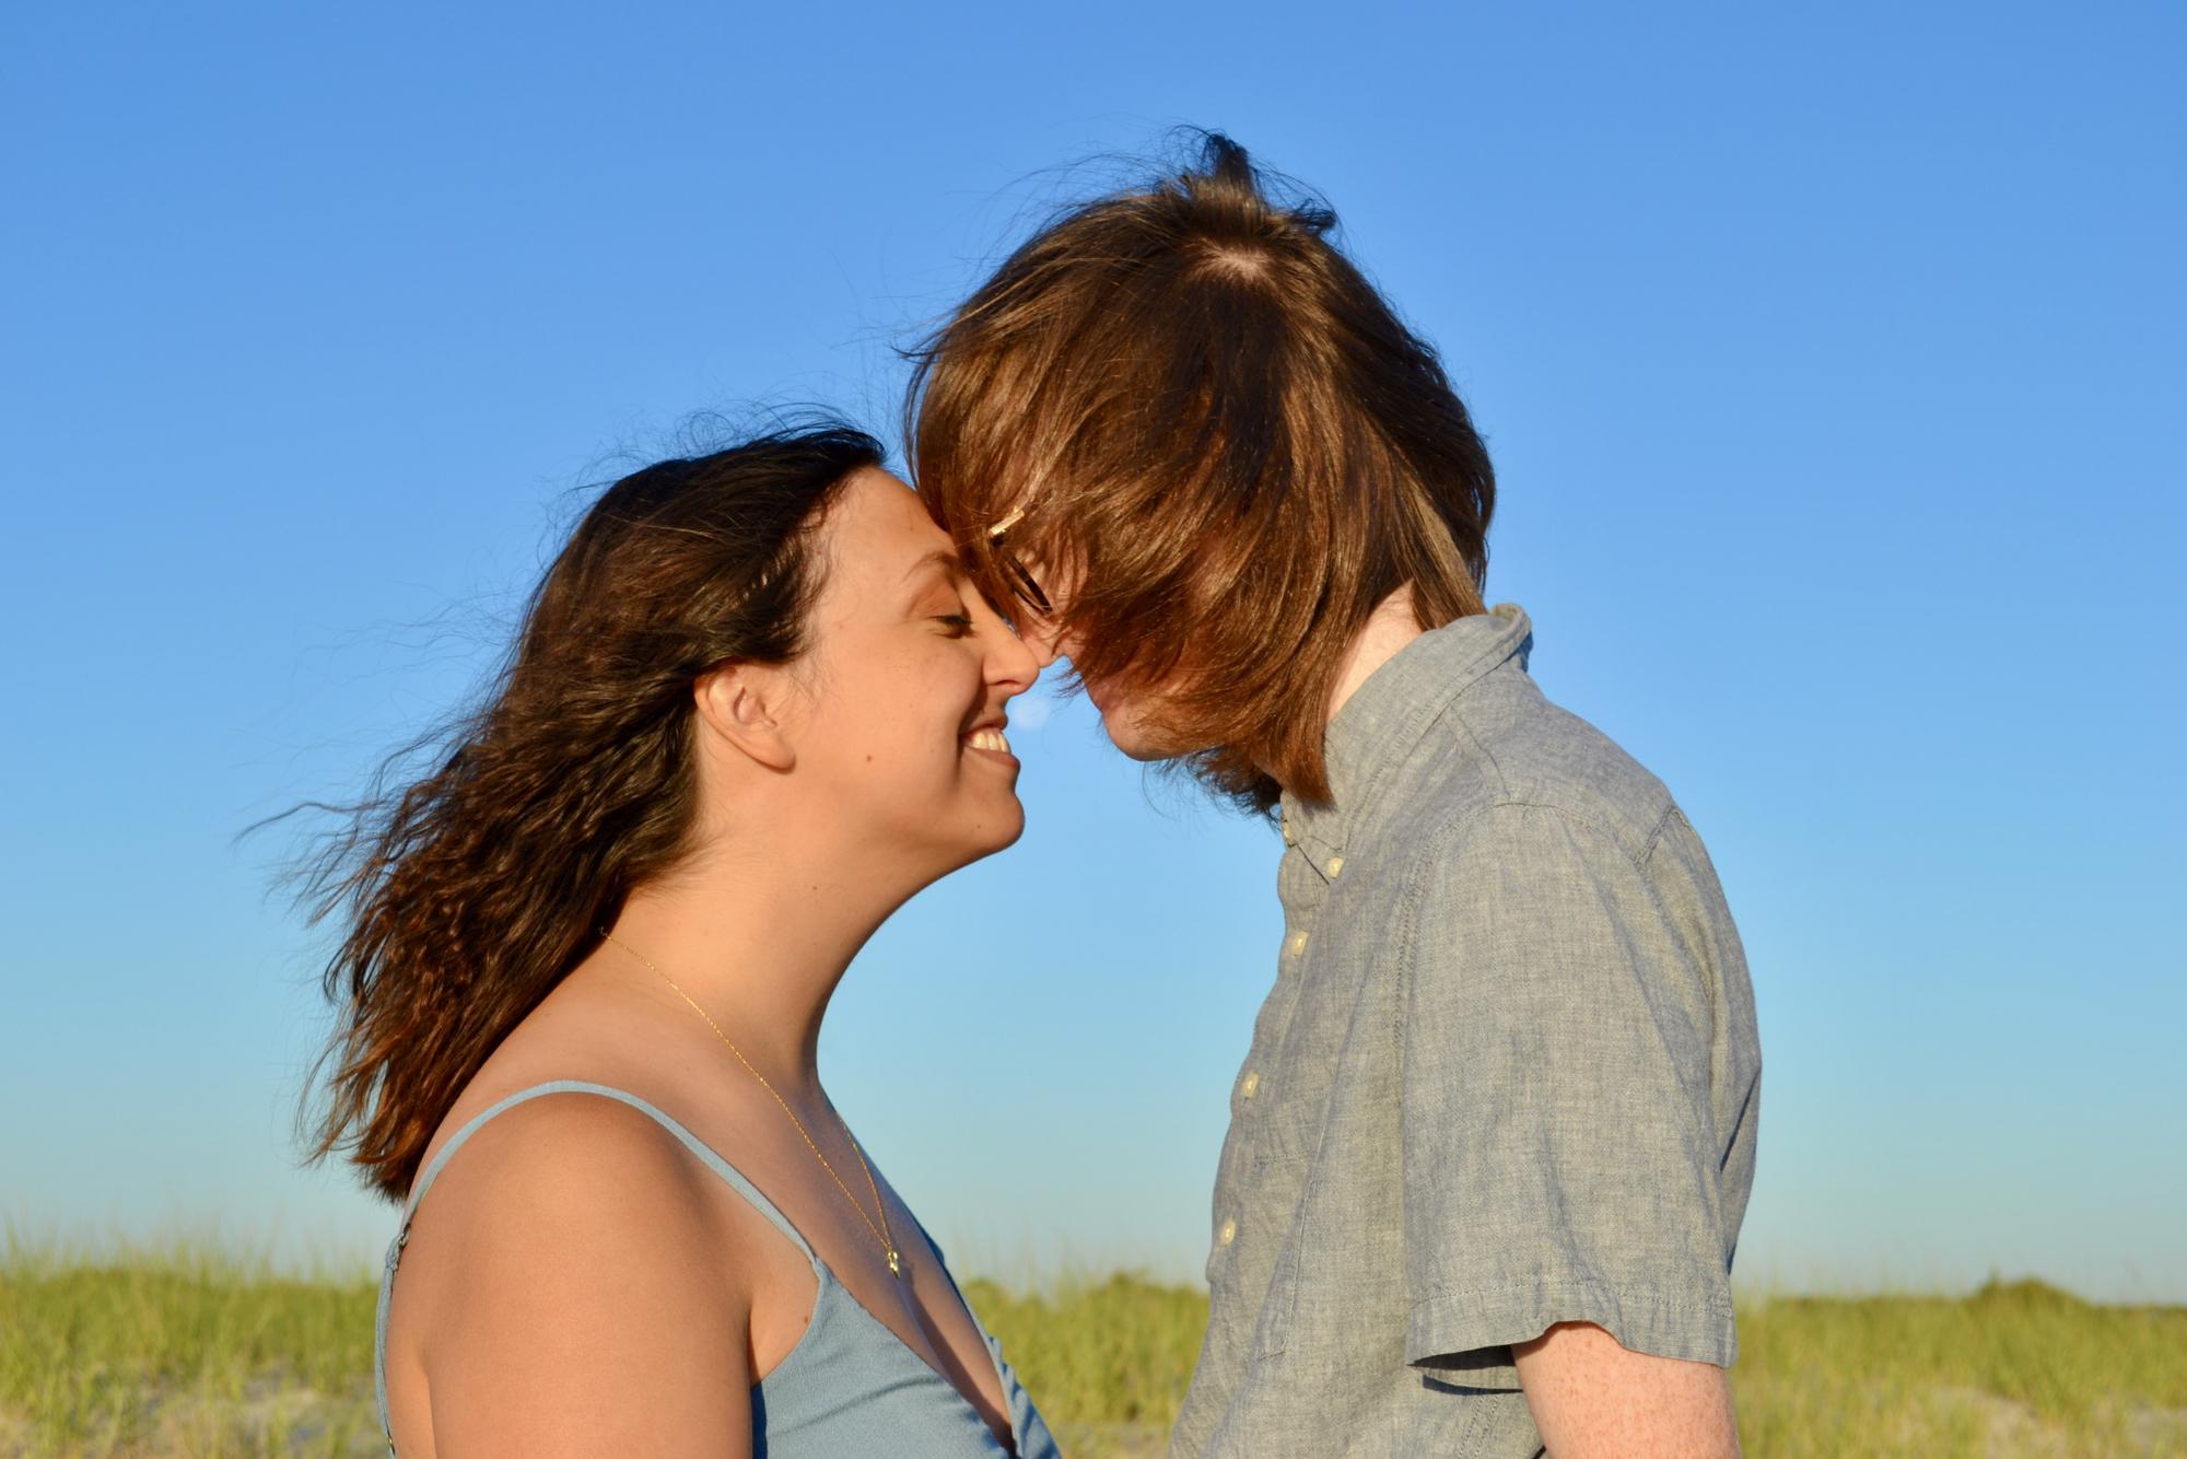
<svg viewBox="0 0 2187 1459"><path fill-rule="evenodd" d="M1739 1356L1730 1291L1669 1297L1575 1280L1430 1293L1413 1304L1404 1361L1457 1369L1467 1387L1516 1387L1511 1343L1531 1343L1559 1321L1590 1321L1658 1358L1730 1367Z"/></svg>

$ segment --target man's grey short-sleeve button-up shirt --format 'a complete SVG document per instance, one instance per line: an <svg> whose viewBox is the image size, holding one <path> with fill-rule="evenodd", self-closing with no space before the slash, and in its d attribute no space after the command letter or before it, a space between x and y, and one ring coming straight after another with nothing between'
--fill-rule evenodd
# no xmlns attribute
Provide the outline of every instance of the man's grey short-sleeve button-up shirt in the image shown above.
<svg viewBox="0 0 2187 1459"><path fill-rule="evenodd" d="M1516 606L1422 634L1284 801L1275 987L1231 1089L1172 1459L1524 1457L1511 1343L1730 1365L1761 1043L1664 785L1527 674Z"/></svg>

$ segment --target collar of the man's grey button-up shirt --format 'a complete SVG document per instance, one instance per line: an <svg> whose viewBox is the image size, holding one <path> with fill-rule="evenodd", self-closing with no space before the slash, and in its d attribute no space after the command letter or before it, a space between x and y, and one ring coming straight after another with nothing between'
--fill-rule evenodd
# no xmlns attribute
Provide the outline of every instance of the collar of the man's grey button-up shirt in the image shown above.
<svg viewBox="0 0 2187 1459"><path fill-rule="evenodd" d="M1518 604L1496 604L1487 612L1430 628L1391 654L1330 720L1323 737L1330 805L1306 805L1284 792L1284 842L1306 851L1323 879L1334 877L1332 860L1343 855L1345 840L1404 752L1419 744L1467 685L1513 656L1524 669L1531 650L1533 623L1527 612Z"/></svg>

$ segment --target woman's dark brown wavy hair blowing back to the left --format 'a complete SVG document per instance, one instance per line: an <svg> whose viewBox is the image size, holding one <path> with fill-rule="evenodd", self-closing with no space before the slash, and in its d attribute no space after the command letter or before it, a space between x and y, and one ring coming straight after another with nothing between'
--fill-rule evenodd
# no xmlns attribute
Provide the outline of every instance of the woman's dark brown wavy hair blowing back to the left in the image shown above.
<svg viewBox="0 0 2187 1459"><path fill-rule="evenodd" d="M547 569L481 707L429 742L437 770L383 772L343 807L304 871L313 921L343 934L311 1159L341 1151L400 1201L486 1057L678 864L698 678L803 652L811 536L879 464L879 442L822 422L623 477Z"/></svg>

